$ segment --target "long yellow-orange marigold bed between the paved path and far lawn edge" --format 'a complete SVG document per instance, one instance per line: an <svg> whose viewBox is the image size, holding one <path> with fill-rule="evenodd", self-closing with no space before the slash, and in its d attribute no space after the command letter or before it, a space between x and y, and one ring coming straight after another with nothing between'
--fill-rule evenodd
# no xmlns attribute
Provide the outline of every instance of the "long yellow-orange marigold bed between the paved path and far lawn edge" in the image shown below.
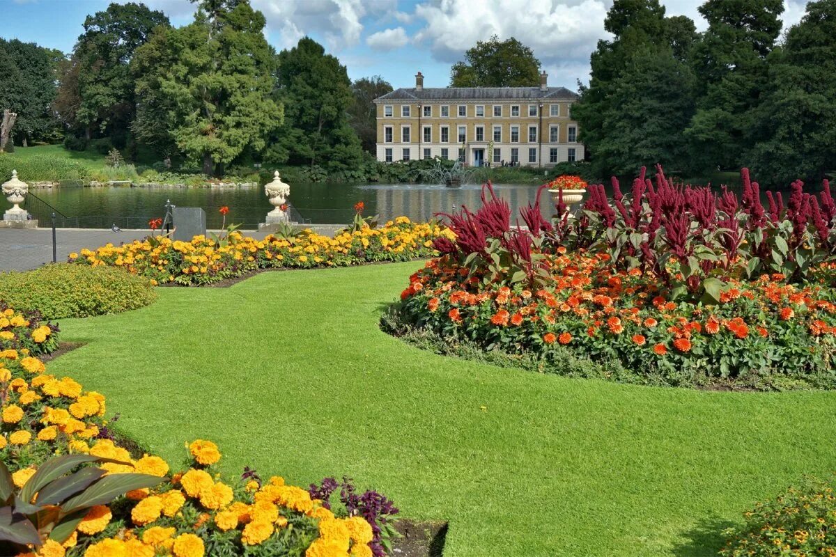
<svg viewBox="0 0 836 557"><path fill-rule="evenodd" d="M303 230L268 235L263 241L232 231L225 238L195 236L191 242L151 237L125 246L100 247L70 254L69 261L120 266L154 284L204 285L257 269L352 266L373 261L409 261L436 255L432 242L454 237L436 223L412 223L398 217L380 228L369 225L331 238Z"/></svg>

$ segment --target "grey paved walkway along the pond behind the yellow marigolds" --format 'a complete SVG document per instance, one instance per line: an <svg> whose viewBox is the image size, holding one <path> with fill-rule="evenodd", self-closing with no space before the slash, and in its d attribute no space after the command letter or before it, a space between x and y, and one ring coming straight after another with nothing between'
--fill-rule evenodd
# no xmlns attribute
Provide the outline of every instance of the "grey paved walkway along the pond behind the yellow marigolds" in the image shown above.
<svg viewBox="0 0 836 557"><path fill-rule="evenodd" d="M308 225L319 234L334 235L341 225ZM271 230L242 230L244 235L262 239ZM56 230L56 259L67 261L70 253L91 250L110 242L114 246L141 240L150 230L110 230L87 228L59 228ZM0 228L0 271L28 271L53 261L52 229Z"/></svg>

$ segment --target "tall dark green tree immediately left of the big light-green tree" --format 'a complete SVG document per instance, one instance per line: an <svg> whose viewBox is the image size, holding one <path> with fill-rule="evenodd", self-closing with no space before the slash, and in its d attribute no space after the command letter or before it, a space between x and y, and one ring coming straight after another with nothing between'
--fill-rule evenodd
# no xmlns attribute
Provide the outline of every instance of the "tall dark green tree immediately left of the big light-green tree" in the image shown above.
<svg viewBox="0 0 836 557"><path fill-rule="evenodd" d="M84 20L56 104L67 124L87 139L106 134L125 146L136 104L130 61L159 26L169 26L166 15L138 3L111 3Z"/></svg>

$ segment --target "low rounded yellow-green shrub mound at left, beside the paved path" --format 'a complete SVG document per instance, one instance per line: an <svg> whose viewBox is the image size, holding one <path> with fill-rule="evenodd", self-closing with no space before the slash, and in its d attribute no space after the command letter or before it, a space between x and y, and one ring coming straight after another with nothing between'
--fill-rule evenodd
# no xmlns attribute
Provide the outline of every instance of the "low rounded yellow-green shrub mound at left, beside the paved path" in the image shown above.
<svg viewBox="0 0 836 557"><path fill-rule="evenodd" d="M156 299L148 279L121 269L59 263L0 273L0 300L48 319L119 313Z"/></svg>

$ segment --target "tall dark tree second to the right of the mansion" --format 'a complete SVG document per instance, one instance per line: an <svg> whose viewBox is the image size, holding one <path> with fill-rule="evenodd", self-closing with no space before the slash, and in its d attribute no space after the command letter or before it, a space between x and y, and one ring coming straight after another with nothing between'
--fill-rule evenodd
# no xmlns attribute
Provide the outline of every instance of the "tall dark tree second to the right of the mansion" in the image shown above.
<svg viewBox="0 0 836 557"><path fill-rule="evenodd" d="M746 165L753 118L767 88L767 55L781 32L782 0L708 0L708 22L692 49L697 111L686 135L691 166L705 171Z"/></svg>

